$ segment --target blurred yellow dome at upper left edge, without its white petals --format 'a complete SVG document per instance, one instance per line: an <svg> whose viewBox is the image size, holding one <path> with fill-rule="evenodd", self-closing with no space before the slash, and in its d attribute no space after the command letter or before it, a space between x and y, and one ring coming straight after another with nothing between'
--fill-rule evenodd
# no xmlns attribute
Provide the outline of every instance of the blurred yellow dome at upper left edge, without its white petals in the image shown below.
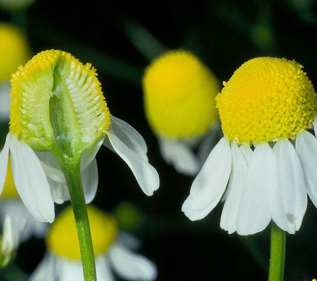
<svg viewBox="0 0 317 281"><path fill-rule="evenodd" d="M30 58L29 44L15 26L0 23L0 82L9 81L11 73Z"/></svg>

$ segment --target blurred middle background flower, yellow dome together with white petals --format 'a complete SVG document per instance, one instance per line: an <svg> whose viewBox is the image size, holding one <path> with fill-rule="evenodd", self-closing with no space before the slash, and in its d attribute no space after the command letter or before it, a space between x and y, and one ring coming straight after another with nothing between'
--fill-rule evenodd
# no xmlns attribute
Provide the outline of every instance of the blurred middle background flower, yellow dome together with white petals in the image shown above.
<svg viewBox="0 0 317 281"><path fill-rule="evenodd" d="M179 49L154 60L142 82L146 118L162 157L178 172L196 175L201 164L191 147L218 127L217 78L197 56Z"/></svg>

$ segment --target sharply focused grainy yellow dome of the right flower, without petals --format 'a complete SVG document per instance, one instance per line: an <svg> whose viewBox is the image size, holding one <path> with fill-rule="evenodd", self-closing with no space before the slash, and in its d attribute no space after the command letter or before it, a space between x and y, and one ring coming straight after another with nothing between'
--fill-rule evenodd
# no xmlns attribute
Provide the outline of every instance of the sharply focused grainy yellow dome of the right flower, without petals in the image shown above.
<svg viewBox="0 0 317 281"><path fill-rule="evenodd" d="M317 114L313 85L297 62L259 57L235 71L217 95L223 133L238 143L294 139Z"/></svg>

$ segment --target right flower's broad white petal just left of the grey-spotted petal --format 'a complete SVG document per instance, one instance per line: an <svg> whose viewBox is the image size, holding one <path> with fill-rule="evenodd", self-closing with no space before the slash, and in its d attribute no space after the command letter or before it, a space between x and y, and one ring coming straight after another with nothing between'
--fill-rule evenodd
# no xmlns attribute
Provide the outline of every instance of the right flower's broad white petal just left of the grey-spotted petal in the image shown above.
<svg viewBox="0 0 317 281"><path fill-rule="evenodd" d="M272 177L276 167L275 158L267 142L259 143L250 160L245 188L237 217L237 233L249 235L262 231L270 222L266 190L276 184Z"/></svg>

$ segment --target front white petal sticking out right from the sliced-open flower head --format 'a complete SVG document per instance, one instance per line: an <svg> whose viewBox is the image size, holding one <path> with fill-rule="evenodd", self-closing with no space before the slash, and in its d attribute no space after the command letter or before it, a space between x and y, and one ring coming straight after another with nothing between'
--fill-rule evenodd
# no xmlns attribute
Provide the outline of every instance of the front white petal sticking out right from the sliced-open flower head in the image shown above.
<svg viewBox="0 0 317 281"><path fill-rule="evenodd" d="M107 133L115 152L128 164L143 192L150 196L159 188L159 175L144 158L127 147L111 132Z"/></svg>

